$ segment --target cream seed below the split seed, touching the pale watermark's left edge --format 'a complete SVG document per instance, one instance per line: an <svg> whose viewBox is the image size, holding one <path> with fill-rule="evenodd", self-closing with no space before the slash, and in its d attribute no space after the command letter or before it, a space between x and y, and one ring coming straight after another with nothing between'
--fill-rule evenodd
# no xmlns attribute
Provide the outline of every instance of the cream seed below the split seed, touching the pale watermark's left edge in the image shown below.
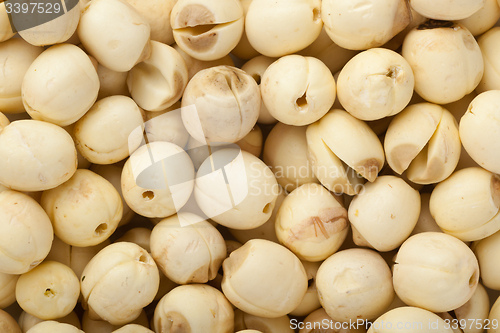
<svg viewBox="0 0 500 333"><path fill-rule="evenodd" d="M76 147L92 163L122 161L137 149L143 121L143 111L130 97L103 98L75 124Z"/></svg>

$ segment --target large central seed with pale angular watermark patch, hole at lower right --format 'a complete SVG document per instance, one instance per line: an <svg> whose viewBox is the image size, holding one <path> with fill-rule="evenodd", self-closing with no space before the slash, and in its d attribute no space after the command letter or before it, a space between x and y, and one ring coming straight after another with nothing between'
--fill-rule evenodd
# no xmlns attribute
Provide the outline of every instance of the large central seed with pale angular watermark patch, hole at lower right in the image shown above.
<svg viewBox="0 0 500 333"><path fill-rule="evenodd" d="M212 161L218 169L212 169ZM221 162L227 163L223 169ZM200 209L215 222L253 229L271 217L278 191L276 178L264 162L243 150L222 149L200 166L194 194Z"/></svg>

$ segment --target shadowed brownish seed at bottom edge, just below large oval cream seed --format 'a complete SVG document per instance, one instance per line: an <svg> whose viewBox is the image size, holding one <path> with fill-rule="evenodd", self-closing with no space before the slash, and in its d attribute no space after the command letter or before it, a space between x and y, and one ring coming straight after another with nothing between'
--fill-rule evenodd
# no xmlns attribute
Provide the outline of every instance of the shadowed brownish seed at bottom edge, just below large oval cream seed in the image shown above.
<svg viewBox="0 0 500 333"><path fill-rule="evenodd" d="M292 333L293 329L290 326L290 318L287 315L278 318L265 318L245 313L239 309L234 311L234 330L238 332Z"/></svg>

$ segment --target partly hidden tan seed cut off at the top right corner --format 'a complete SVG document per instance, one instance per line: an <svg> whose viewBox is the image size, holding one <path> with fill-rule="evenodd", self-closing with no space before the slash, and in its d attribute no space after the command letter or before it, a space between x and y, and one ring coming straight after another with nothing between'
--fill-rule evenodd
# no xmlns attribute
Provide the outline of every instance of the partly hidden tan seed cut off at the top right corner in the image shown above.
<svg viewBox="0 0 500 333"><path fill-rule="evenodd" d="M498 19L500 19L500 5L498 1L485 0L484 6L480 10L457 22L463 24L474 36L479 36L493 28Z"/></svg>

